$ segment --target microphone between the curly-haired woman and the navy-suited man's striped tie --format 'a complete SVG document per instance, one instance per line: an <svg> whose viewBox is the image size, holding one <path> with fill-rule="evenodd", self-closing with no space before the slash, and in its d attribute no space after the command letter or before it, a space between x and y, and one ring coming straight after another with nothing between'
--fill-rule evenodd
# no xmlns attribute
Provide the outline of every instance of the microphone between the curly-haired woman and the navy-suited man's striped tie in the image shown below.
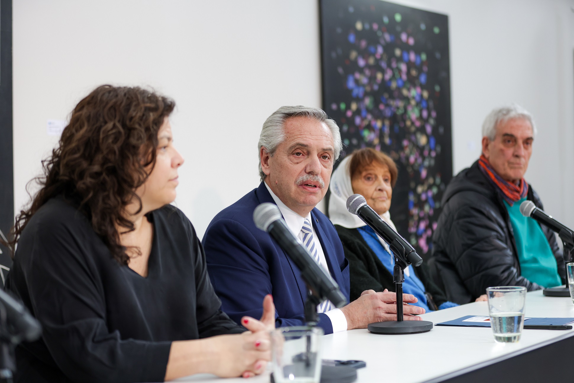
<svg viewBox="0 0 574 383"><path fill-rule="evenodd" d="M289 255L301 271L301 277L309 290L320 300L328 299L337 308L347 304L347 298L339 290L337 282L325 273L325 270L315 262L313 256L302 246L299 240L289 231L282 219L277 205L264 202L253 212L255 226L268 232L279 246Z"/></svg>

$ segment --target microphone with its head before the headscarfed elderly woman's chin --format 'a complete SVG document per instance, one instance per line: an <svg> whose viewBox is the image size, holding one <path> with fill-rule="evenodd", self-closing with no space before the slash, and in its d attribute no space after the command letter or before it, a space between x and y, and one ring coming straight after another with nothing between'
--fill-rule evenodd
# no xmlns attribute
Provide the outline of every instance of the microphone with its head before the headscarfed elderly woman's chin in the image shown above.
<svg viewBox="0 0 574 383"><path fill-rule="evenodd" d="M367 205L367 201L360 194L353 194L347 199L347 210L350 213L359 216L364 223L369 225L371 229L377 233L386 243L389 244L395 255L407 263L412 263L413 266L420 266L422 263L422 258L417 254L410 243L406 242L402 236L393 230L385 221L381 219L381 216Z"/></svg>

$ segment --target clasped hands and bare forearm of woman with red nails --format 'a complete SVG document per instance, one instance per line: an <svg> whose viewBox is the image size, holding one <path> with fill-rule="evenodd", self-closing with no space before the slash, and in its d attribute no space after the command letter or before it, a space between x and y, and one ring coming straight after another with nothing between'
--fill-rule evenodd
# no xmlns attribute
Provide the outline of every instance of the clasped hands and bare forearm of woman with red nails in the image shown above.
<svg viewBox="0 0 574 383"><path fill-rule="evenodd" d="M269 331L275 328L273 298L266 296L263 300L261 321L245 316L241 323L248 330L242 334L172 342L165 380L198 373L222 378L261 374L271 360Z"/></svg>

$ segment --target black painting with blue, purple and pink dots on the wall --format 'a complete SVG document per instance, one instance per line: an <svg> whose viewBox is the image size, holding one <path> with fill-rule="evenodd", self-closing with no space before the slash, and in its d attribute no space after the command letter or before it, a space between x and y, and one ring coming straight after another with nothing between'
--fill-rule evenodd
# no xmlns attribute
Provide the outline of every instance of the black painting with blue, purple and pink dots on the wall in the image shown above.
<svg viewBox="0 0 574 383"><path fill-rule="evenodd" d="M448 17L379 0L320 5L323 109L346 154L395 160L391 219L427 258L452 178Z"/></svg>

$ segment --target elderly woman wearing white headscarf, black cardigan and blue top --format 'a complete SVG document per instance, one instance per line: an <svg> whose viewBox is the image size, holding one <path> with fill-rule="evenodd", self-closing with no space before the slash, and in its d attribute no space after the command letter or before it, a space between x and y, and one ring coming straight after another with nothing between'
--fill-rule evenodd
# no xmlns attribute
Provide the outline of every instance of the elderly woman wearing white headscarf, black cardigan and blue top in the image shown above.
<svg viewBox="0 0 574 383"><path fill-rule="evenodd" d="M395 290L393 282L394 258L389 245L379 238L358 216L348 212L346 202L352 194L361 194L367 204L393 229L389 208L393 187L397 182L397 166L386 154L363 148L347 156L331 177L329 218L343 243L345 257L351 271L351 301L364 290ZM426 273L405 269L403 292L418 298L414 305L426 311L457 306L447 301L445 294Z"/></svg>

